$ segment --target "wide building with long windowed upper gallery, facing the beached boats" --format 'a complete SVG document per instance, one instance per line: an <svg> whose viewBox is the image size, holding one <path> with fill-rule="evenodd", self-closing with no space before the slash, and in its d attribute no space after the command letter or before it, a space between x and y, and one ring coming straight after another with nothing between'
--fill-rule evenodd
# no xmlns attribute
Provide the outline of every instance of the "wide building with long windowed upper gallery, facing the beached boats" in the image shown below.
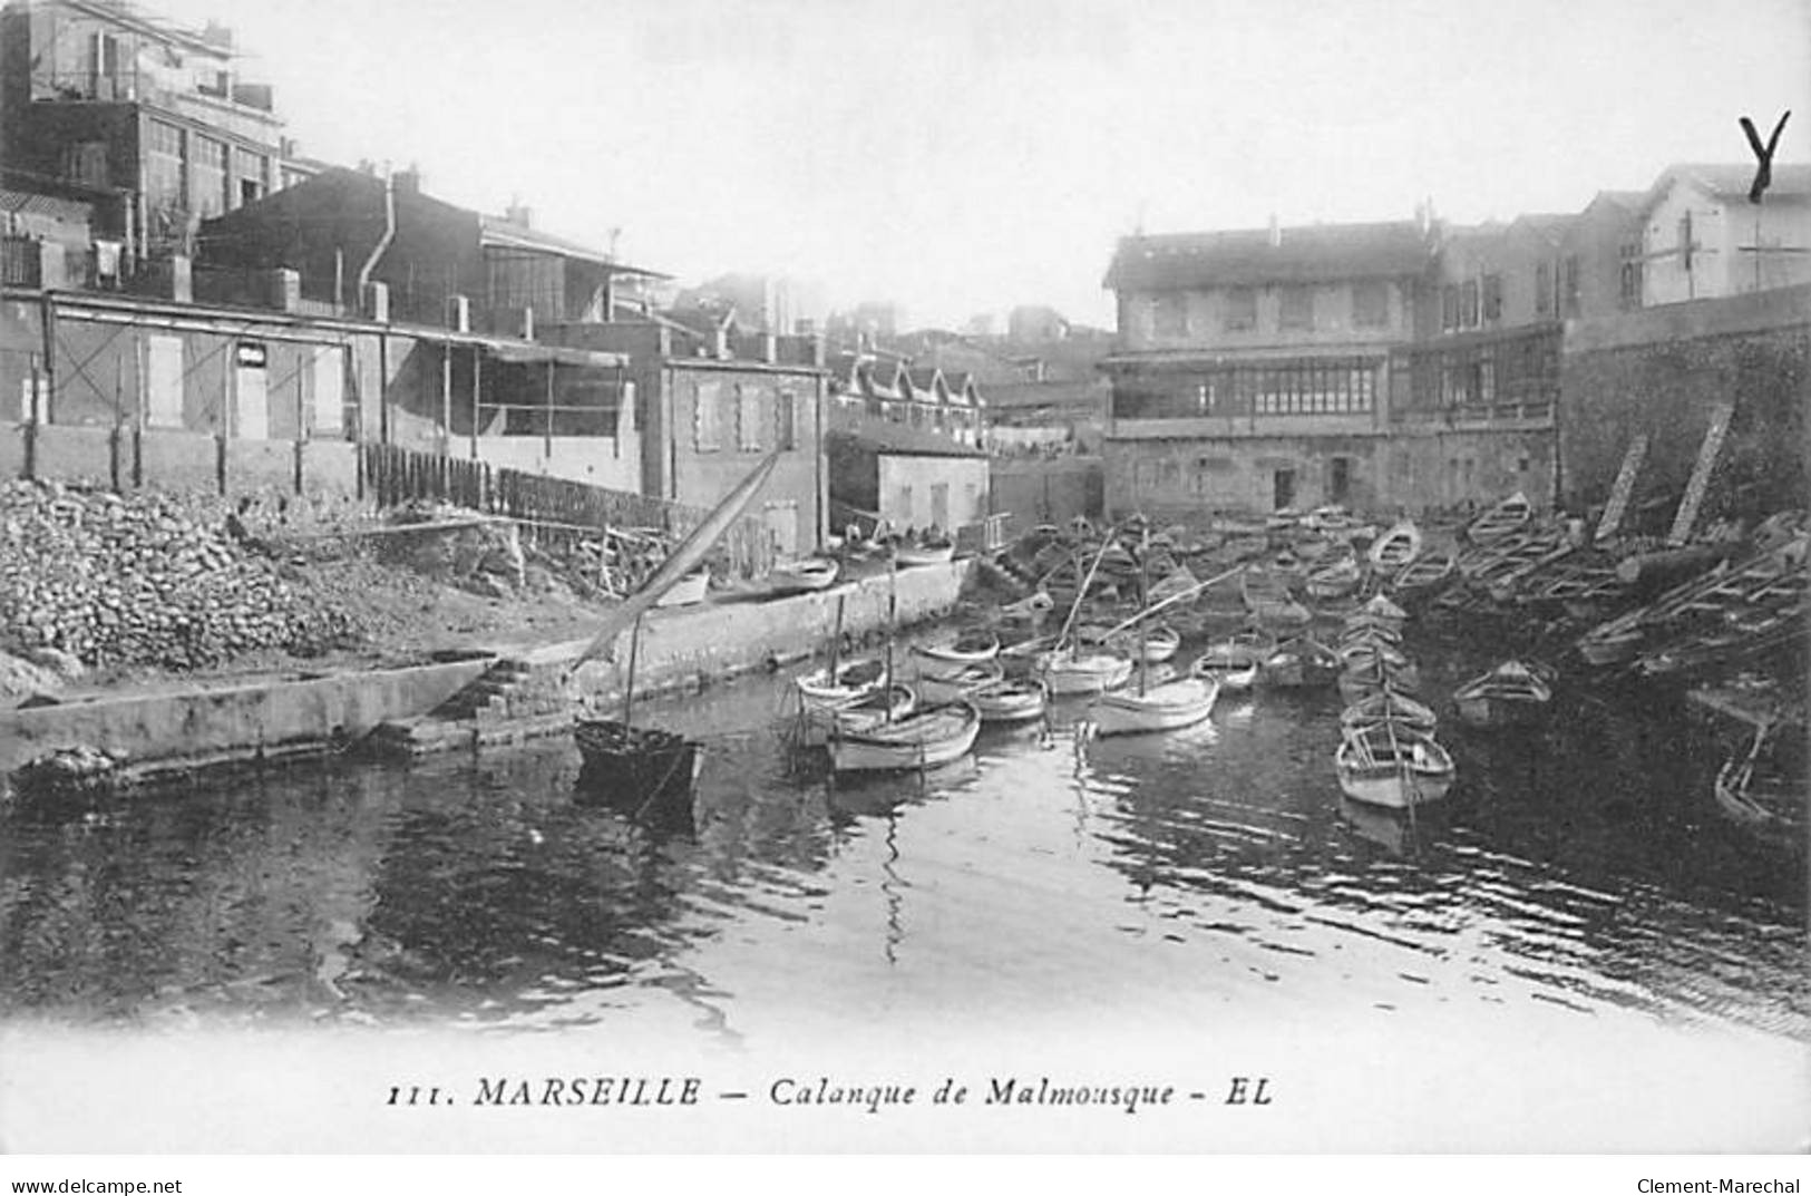
<svg viewBox="0 0 1811 1196"><path fill-rule="evenodd" d="M1107 511L1391 500L1391 350L1434 270L1425 219L1123 239Z"/></svg>

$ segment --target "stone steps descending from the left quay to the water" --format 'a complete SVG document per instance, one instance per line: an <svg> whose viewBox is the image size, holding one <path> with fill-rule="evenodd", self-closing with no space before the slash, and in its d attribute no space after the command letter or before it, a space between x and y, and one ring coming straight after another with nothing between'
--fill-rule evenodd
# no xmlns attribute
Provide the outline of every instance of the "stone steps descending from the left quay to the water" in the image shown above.
<svg viewBox="0 0 1811 1196"><path fill-rule="evenodd" d="M420 718L382 723L368 738L388 756L431 756L565 734L572 707L556 665L498 658L476 681Z"/></svg>

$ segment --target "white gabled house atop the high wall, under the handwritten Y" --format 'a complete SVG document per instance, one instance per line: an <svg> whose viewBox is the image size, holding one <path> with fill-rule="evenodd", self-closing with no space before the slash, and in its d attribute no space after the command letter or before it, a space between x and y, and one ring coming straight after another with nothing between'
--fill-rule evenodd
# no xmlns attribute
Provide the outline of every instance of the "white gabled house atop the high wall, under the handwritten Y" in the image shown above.
<svg viewBox="0 0 1811 1196"><path fill-rule="evenodd" d="M1773 167L1760 203L1749 165L1675 165L1648 188L1643 306L1811 283L1811 165Z"/></svg>

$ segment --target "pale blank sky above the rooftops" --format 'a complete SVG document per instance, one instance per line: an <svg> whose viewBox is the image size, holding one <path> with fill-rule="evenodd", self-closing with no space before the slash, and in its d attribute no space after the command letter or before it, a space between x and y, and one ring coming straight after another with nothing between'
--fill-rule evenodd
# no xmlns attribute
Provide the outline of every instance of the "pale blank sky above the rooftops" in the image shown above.
<svg viewBox="0 0 1811 1196"><path fill-rule="evenodd" d="M302 152L909 326L1112 326L1121 236L1572 212L1811 158L1807 0L139 0L219 18Z"/></svg>

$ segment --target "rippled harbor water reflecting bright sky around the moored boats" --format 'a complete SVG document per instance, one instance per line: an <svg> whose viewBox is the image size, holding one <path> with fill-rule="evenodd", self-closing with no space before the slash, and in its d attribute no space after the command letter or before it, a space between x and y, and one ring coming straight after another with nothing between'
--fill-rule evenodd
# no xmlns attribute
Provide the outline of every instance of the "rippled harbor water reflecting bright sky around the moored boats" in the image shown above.
<svg viewBox="0 0 1811 1196"><path fill-rule="evenodd" d="M1411 649L1443 716L1489 660ZM1119 739L1076 701L860 781L786 750L784 701L752 678L645 709L708 738L692 826L578 801L565 739L11 808L0 1017L759 1044L1442 1011L1811 1038L1802 855L1726 823L1717 756L1626 699L1570 692L1516 736L1447 719L1460 783L1413 821L1340 797L1331 690Z"/></svg>

